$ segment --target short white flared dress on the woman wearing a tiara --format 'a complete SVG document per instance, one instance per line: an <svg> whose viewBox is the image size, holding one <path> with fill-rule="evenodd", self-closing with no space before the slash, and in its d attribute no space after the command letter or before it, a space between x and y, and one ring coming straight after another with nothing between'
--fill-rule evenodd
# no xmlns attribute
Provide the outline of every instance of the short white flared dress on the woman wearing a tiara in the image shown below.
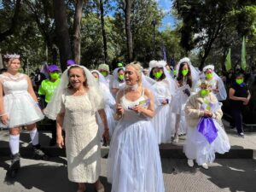
<svg viewBox="0 0 256 192"><path fill-rule="evenodd" d="M31 125L44 119L44 114L38 104L27 92L28 84L26 75L18 73L15 76L3 73L0 75L0 82L3 85L3 108L4 113L9 116L7 125L0 122L1 127L18 127Z"/></svg>

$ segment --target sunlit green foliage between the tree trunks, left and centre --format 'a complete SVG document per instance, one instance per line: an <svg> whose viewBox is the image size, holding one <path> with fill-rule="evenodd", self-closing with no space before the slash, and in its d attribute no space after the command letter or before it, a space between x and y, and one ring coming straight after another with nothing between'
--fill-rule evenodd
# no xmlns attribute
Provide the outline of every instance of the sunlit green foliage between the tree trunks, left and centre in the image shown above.
<svg viewBox="0 0 256 192"><path fill-rule="evenodd" d="M67 22L70 39L73 42L73 17L75 1L65 1L67 8ZM81 64L96 67L104 61L102 26L98 9L98 0L84 3L81 25ZM168 60L174 55L178 60L184 55L183 49L177 42L181 39L177 29L166 28L159 31L160 21L164 13L158 8L154 0L132 1L131 31L133 35L134 57L147 66L153 59L153 25L155 26L155 47L157 59L162 59L162 45L166 47ZM15 1L3 0L0 6L0 32L10 26L14 14ZM105 29L108 41L108 61L116 65L117 62L127 61L125 38L125 15L123 1L104 1ZM40 67L43 61L51 63L54 60L57 36L55 35L55 20L52 1L23 0L16 31L0 43L1 53L17 53L21 55L24 69L28 63L30 68ZM47 49L46 49L47 48ZM58 52L56 53L58 54ZM59 56L57 56L58 58Z"/></svg>

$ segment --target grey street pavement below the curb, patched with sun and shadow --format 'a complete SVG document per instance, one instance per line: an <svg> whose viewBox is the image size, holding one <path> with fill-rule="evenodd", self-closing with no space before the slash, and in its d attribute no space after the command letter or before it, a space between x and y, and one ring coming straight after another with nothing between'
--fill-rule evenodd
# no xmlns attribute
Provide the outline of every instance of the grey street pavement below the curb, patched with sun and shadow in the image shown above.
<svg viewBox="0 0 256 192"><path fill-rule="evenodd" d="M22 159L17 178L7 179L9 160L0 158L1 192L74 192L76 184L67 180L65 159L51 158L49 161ZM102 159L102 183L110 192L111 185L106 179L106 159ZM207 191L256 191L255 160L216 160L209 170L199 166L189 168L185 160L162 159L166 192L207 192ZM88 185L86 192L95 192Z"/></svg>

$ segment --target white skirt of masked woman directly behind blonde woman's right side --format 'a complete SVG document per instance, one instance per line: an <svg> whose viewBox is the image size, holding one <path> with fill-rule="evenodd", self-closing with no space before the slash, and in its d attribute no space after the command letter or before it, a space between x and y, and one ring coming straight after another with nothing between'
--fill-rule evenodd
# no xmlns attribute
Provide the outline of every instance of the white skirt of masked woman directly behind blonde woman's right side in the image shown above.
<svg viewBox="0 0 256 192"><path fill-rule="evenodd" d="M151 121L157 143L171 143L172 130L175 122L172 122L170 105L167 104L156 108L154 118Z"/></svg>

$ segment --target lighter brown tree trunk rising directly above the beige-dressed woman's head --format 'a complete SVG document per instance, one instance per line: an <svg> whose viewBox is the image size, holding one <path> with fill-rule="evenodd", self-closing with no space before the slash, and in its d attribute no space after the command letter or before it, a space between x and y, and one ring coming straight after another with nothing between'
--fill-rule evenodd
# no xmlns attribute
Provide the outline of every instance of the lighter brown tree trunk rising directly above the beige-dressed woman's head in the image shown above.
<svg viewBox="0 0 256 192"><path fill-rule="evenodd" d="M80 63L81 59L81 20L83 12L83 0L77 0L76 10L73 21L73 53L76 63Z"/></svg>

